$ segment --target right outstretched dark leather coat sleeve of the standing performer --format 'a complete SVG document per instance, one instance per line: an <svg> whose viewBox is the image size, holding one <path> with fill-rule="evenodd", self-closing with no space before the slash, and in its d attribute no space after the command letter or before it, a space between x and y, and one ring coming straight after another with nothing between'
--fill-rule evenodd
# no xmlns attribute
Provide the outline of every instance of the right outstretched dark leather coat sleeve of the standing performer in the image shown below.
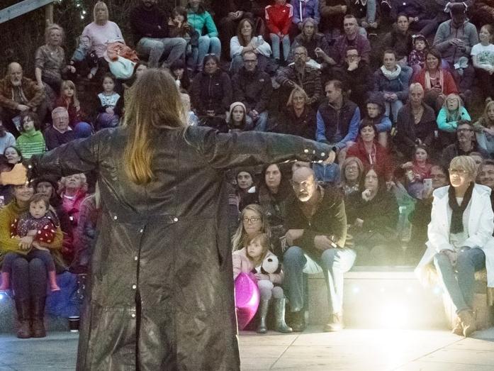
<svg viewBox="0 0 494 371"><path fill-rule="evenodd" d="M295 135L259 133L222 134L210 128L189 128L186 140L216 170L284 162L325 160L330 146Z"/></svg>

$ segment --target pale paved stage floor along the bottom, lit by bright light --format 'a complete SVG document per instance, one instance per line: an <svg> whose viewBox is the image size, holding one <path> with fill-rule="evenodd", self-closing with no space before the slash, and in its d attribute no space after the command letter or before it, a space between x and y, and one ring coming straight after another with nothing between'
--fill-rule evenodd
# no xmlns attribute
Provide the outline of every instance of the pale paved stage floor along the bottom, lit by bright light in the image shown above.
<svg viewBox="0 0 494 371"><path fill-rule="evenodd" d="M242 332L242 370L494 370L494 328L473 338L448 331L319 331L312 326L290 335ZM77 340L77 333L68 332L28 340L0 335L0 371L74 370Z"/></svg>

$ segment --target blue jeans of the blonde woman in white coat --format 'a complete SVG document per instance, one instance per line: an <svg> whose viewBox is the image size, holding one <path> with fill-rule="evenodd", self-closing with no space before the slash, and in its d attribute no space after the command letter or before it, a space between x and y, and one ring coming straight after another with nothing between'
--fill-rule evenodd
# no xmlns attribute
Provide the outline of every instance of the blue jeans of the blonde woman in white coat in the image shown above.
<svg viewBox="0 0 494 371"><path fill-rule="evenodd" d="M456 268L447 255L434 255L434 265L439 273L445 291L456 307L456 313L471 309L475 294L475 272L485 268L485 254L480 248L472 248L458 253Z"/></svg>

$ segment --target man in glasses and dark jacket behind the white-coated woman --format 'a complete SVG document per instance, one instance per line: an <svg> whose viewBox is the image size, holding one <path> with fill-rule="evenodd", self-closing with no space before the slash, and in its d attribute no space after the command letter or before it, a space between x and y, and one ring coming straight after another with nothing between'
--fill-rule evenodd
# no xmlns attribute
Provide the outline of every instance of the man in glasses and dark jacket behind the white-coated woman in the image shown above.
<svg viewBox="0 0 494 371"><path fill-rule="evenodd" d="M472 152L478 152L484 158L489 157L488 153L477 145L471 121L460 120L456 126L456 142L448 145L442 152L442 165L448 168L454 157L468 156Z"/></svg>

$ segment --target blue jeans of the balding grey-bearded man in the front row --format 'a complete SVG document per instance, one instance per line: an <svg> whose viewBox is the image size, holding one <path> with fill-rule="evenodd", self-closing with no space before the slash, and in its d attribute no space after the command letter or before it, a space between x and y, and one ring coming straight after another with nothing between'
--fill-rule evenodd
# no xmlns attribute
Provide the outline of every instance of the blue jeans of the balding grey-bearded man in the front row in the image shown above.
<svg viewBox="0 0 494 371"><path fill-rule="evenodd" d="M330 248L318 258L307 255L302 248L291 246L284 254L285 289L291 311L303 309L305 297L303 274L323 272L327 286L330 314L341 313L343 307L343 274L354 264L356 254L349 248Z"/></svg>

